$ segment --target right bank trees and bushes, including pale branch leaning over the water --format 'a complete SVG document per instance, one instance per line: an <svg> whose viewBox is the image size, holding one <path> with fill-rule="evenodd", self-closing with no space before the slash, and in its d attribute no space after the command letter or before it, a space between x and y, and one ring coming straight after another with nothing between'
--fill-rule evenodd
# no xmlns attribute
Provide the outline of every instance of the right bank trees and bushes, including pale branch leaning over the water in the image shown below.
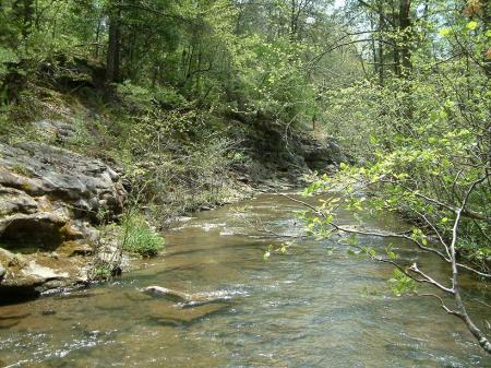
<svg viewBox="0 0 491 368"><path fill-rule="evenodd" d="M373 75L336 90L330 100L334 121L344 121L336 129L355 143L361 164L342 165L336 176L313 181L306 194L340 191L342 197L312 209L308 224L323 236L348 234L351 247L393 264L398 295L418 295L417 284L434 286L441 294L423 289L420 295L462 319L491 353L486 332L466 310L459 283L463 273L483 285L491 277L491 8L479 1L355 1L351 7L369 20L359 31L372 34ZM358 213L359 227L336 221L342 207ZM363 226L384 212L414 226L400 234ZM360 235L395 245L406 240L434 253L448 264L450 282L434 280L431 266L400 260L392 246L382 254L357 246Z"/></svg>

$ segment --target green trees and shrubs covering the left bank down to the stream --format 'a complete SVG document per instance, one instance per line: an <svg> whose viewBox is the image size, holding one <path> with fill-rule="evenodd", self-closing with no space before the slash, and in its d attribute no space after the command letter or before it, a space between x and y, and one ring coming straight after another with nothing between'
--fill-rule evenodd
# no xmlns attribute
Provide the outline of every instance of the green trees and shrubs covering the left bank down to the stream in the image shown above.
<svg viewBox="0 0 491 368"><path fill-rule="evenodd" d="M324 37L336 28L327 8L4 1L2 139L43 140L33 120L70 120L75 136L49 143L124 166L159 218L226 201L231 169L249 181L297 165L300 176L300 136L315 135L320 94L338 80L322 69L343 60L352 76L339 83L361 73L355 49L321 56L344 33Z"/></svg>

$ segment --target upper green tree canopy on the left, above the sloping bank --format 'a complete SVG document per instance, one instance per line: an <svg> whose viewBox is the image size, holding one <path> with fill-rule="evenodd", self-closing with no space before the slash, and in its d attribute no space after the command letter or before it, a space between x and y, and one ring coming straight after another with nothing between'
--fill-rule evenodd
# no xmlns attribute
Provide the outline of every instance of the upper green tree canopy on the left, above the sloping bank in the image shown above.
<svg viewBox="0 0 491 368"><path fill-rule="evenodd" d="M137 0L131 5L40 0L34 5L9 0L1 9L8 21L0 33L0 97L14 103L19 91L37 79L57 87L67 81L112 83L125 107L146 118L154 119L158 108L189 112L195 106L187 102L193 102L209 111L261 110L277 123L310 126L323 116L321 95L330 78L322 68L343 59L356 71L355 49L318 59L336 36L327 7L283 0L262 5L226 0ZM111 52L115 14L119 75L105 81L100 67ZM308 23L309 17L315 23ZM15 79L17 74L24 78Z"/></svg>

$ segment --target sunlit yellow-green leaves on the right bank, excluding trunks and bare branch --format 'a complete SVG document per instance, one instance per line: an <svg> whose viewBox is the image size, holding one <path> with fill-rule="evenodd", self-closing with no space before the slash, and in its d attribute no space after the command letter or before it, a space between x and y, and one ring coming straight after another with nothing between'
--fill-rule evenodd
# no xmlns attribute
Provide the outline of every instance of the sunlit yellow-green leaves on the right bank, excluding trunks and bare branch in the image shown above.
<svg viewBox="0 0 491 368"><path fill-rule="evenodd" d="M386 68L383 84L376 75L326 93L325 129L359 164L342 164L304 192L340 190L339 206L361 217L395 212L415 223L414 240L434 247L432 239L452 237L455 210L471 189L456 248L487 271L489 178L471 185L489 175L489 24L439 2L429 7L441 15L417 23L410 78ZM384 35L398 37L397 29Z"/></svg>

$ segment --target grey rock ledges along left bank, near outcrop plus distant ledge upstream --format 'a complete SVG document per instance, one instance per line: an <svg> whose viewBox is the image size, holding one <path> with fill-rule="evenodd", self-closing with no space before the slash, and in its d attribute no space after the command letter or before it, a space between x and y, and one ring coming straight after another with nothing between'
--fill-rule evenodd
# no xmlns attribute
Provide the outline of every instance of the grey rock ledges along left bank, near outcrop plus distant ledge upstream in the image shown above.
<svg viewBox="0 0 491 368"><path fill-rule="evenodd" d="M61 140L72 133L62 122L35 127L40 135ZM271 161L260 178L230 171L236 198L298 187L299 167L307 173L344 159L333 143L299 142L302 155L296 157L295 174L288 167L278 170ZM84 286L95 258L113 257L118 246L99 225L118 222L128 200L130 188L116 166L37 141L0 143L0 304Z"/></svg>

